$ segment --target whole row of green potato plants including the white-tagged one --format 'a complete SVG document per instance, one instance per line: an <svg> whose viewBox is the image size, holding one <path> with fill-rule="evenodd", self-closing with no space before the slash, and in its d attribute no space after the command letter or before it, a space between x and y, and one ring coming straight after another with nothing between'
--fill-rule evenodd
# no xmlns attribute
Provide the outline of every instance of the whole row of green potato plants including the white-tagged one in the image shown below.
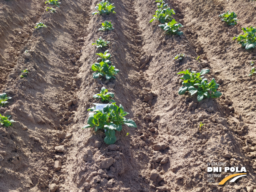
<svg viewBox="0 0 256 192"><path fill-rule="evenodd" d="M96 12L93 12L92 15L109 15L110 13L115 14L114 11L115 6L108 1L102 0L99 4L96 5ZM99 28L99 31L109 31L113 30L113 24L109 21L105 21L102 23L102 27ZM109 41L102 39L102 37L98 38L95 43L96 48L104 49L108 47L110 44ZM119 73L119 69L116 69L115 66L112 65L111 54L108 53L109 50L104 51L104 53L96 53L99 57L97 58L98 62L93 63L91 69L95 71L93 73L94 79L116 79L117 73ZM101 103L93 103L95 106L88 109L90 111L87 125L83 127L85 128L94 128L95 132L98 130L102 130L105 133L104 142L106 144L114 144L117 141L115 136L116 131L121 131L123 128L123 124L129 127L137 128L137 125L132 119L126 119L126 115L128 112L124 111L123 106L120 104L117 106L116 102L113 100L115 97L114 93L108 92L105 87L101 88L101 91L95 95L93 98L97 99L98 102ZM101 104L106 104L102 106L102 108L97 108L97 106Z"/></svg>

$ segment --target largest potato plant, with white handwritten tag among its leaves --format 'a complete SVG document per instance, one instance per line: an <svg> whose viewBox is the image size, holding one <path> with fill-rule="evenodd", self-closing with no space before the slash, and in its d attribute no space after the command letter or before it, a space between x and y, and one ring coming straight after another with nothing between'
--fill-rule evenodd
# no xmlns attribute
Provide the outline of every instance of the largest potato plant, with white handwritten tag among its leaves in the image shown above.
<svg viewBox="0 0 256 192"><path fill-rule="evenodd" d="M95 132L104 130L106 135L104 141L106 144L115 143L117 140L115 131L121 131L123 124L137 128L137 125L132 119L126 119L124 117L129 113L124 111L121 104L120 106L117 106L116 103L107 104L101 110L96 110L95 107L92 107L88 111L91 111L87 121L88 124L83 129L94 127Z"/></svg>

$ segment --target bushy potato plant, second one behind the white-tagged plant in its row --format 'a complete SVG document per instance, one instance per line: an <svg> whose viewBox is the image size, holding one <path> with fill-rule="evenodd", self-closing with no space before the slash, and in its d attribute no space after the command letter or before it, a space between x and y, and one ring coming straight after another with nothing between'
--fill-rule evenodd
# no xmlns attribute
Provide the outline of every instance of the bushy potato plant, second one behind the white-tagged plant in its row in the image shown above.
<svg viewBox="0 0 256 192"><path fill-rule="evenodd" d="M105 77L106 79L115 79L115 75L119 73L119 69L115 69L115 66L108 65L109 60L102 61L100 63L94 63L91 66L93 71L93 79L97 79L99 77Z"/></svg>

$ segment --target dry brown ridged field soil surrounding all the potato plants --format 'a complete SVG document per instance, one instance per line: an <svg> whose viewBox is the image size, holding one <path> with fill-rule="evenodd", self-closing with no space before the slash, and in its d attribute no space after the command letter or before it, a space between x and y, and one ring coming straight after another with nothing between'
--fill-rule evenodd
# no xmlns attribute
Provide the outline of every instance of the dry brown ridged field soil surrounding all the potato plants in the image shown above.
<svg viewBox="0 0 256 192"><path fill-rule="evenodd" d="M16 121L0 126L0 192L256 192L256 49L232 40L256 27L255 1L166 0L181 36L149 23L155 0L112 0L116 14L103 16L91 15L99 0L60 2L51 13L43 0L0 0L0 93L12 97L0 113ZM236 26L220 21L228 10ZM115 29L98 31L105 20ZM95 53L106 50L91 45L99 37L110 41L115 80L92 77ZM177 73L188 68L210 69L221 97L179 95ZM103 86L137 124L111 146L104 132L82 130ZM207 182L208 162L244 166L247 176L218 185L236 173L222 171Z"/></svg>

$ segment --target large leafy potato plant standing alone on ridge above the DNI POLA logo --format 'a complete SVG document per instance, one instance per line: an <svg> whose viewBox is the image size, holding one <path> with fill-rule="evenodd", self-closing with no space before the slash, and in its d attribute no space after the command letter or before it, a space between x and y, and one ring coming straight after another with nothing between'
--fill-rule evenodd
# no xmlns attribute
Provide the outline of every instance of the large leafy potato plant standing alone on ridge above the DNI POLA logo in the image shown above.
<svg viewBox="0 0 256 192"><path fill-rule="evenodd" d="M206 73L208 73L210 69L202 69L200 73L196 71L190 71L187 69L186 71L181 71L177 74L184 74L181 79L182 87L179 88L179 95L185 94L187 91L190 95L197 94L197 101L202 101L206 98L218 98L221 96L221 92L217 91L219 84L216 83L215 79L212 78L210 82L204 78Z"/></svg>

